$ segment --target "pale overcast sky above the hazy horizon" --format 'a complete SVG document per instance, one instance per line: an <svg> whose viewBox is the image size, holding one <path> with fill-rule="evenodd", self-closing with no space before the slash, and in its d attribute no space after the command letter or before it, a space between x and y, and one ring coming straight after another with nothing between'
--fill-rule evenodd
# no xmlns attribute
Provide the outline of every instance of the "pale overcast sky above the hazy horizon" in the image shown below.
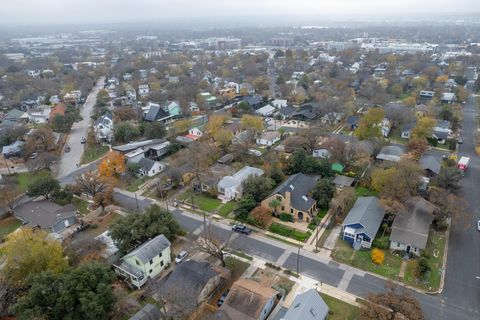
<svg viewBox="0 0 480 320"><path fill-rule="evenodd" d="M347 18L402 13L472 13L480 0L0 0L10 25L137 22L225 16L321 15Z"/></svg>

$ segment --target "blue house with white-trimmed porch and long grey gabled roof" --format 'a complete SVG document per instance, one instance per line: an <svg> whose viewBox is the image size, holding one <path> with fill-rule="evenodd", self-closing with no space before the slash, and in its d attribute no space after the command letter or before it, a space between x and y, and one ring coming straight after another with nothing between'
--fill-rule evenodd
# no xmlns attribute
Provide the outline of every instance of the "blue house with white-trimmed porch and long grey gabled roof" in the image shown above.
<svg viewBox="0 0 480 320"><path fill-rule="evenodd" d="M370 248L385 210L377 197L359 197L342 224L342 239L354 249Z"/></svg>

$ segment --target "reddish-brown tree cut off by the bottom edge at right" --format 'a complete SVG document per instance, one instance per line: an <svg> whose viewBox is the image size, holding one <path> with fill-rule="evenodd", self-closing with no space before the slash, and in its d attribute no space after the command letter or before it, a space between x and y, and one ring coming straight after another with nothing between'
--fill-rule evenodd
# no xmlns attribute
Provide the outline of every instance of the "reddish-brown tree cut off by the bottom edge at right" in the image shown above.
<svg viewBox="0 0 480 320"><path fill-rule="evenodd" d="M422 307L407 291L390 286L386 292L370 294L367 305L359 309L359 320L424 320Z"/></svg>

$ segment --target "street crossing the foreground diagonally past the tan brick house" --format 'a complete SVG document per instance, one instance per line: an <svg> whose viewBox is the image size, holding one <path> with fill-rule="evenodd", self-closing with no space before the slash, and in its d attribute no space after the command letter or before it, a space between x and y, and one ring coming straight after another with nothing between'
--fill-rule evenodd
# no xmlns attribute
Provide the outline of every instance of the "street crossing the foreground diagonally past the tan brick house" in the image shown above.
<svg viewBox="0 0 480 320"><path fill-rule="evenodd" d="M127 210L135 211L137 201L126 192L115 192L115 201ZM138 199L140 210L153 203L150 199ZM172 211L180 226L188 232L201 234L203 218L182 209ZM296 270L297 247L252 234L244 236L232 234L230 227L212 221L210 230L223 241L229 241L228 247L245 252L249 255L262 258L266 261L282 265L285 268ZM324 256L300 250L299 272L321 283L338 287L349 293L366 297L370 292L379 292L385 289L386 281L350 266L341 265ZM449 299L442 299L443 295L427 295L414 292L421 302L427 319L467 320L478 319L478 310L471 310ZM460 295L459 299L464 297Z"/></svg>

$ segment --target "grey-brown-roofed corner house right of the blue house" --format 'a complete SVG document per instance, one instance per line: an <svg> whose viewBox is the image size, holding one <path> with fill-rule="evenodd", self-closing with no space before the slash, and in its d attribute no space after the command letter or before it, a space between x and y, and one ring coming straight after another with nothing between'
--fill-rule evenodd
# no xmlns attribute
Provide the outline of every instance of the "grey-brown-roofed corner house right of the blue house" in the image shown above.
<svg viewBox="0 0 480 320"><path fill-rule="evenodd" d="M421 197L407 201L403 212L395 216L390 234L390 249L420 255L425 250L435 206Z"/></svg>

